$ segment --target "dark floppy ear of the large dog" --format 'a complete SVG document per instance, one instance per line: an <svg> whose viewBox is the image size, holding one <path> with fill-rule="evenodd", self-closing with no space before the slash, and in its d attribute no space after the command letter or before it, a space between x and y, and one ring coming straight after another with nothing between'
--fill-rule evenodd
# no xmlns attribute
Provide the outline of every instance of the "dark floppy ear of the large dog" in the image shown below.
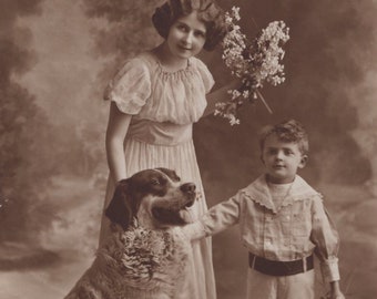
<svg viewBox="0 0 377 299"><path fill-rule="evenodd" d="M129 179L122 179L118 182L113 198L106 207L104 215L115 224L122 226L123 229L128 229L133 219L133 208L131 206L129 195Z"/></svg>

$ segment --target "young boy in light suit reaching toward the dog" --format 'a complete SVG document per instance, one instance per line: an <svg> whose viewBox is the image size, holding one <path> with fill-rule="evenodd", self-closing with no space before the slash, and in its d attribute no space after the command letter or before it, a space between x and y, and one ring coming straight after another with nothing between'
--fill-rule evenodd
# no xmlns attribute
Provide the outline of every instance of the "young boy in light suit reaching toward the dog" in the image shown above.
<svg viewBox="0 0 377 299"><path fill-rule="evenodd" d="M268 126L259 144L265 174L188 225L190 231L204 237L240 224L242 243L249 251L248 299L314 299L313 254L330 286L327 298L344 299L338 234L322 195L297 175L308 158L304 127L294 120Z"/></svg>

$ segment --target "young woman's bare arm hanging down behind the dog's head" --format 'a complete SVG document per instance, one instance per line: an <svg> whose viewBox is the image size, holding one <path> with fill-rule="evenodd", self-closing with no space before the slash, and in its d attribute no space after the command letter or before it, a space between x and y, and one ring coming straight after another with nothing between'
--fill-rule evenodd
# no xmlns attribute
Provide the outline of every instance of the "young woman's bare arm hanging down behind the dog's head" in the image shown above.
<svg viewBox="0 0 377 299"><path fill-rule="evenodd" d="M106 157L114 183L126 178L124 158L124 138L129 131L132 115L122 113L114 102L111 102L106 130Z"/></svg>

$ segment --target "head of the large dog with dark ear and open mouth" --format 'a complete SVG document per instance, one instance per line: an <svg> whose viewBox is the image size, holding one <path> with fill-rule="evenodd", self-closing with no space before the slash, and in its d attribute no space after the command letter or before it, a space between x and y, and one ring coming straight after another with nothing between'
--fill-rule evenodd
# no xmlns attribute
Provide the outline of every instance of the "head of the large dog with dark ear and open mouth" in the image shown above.
<svg viewBox="0 0 377 299"><path fill-rule="evenodd" d="M195 197L195 184L181 183L174 171L145 169L118 183L105 215L123 229L134 218L149 228L184 225L184 209Z"/></svg>

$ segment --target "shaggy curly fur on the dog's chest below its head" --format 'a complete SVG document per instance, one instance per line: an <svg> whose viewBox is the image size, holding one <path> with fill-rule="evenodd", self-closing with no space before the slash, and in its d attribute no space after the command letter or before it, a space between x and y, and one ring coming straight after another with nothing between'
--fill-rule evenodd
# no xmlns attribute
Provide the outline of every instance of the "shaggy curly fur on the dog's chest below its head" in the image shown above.
<svg viewBox="0 0 377 299"><path fill-rule="evenodd" d="M99 256L111 257L123 281L131 287L152 289L179 282L184 276L190 241L179 228L150 230L142 227L114 235Z"/></svg>

